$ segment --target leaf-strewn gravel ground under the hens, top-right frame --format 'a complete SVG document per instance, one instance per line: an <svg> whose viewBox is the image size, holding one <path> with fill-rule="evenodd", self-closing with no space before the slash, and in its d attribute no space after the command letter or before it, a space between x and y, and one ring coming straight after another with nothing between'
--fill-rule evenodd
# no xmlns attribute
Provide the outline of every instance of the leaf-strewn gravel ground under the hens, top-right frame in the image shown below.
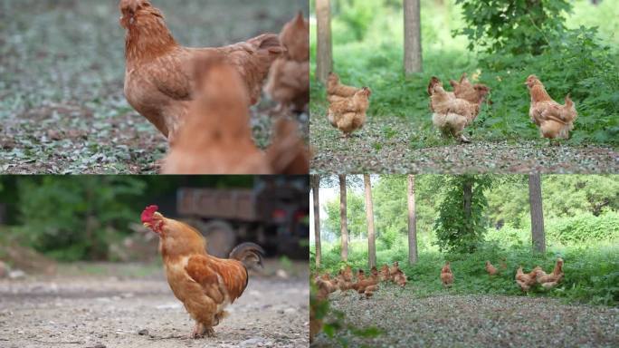
<svg viewBox="0 0 619 348"><path fill-rule="evenodd" d="M316 115L316 113L312 113ZM417 122L418 123L418 122ZM438 132L401 118L368 120L350 139L313 116L315 173L619 173L619 152L594 145L548 146L548 140L443 140Z"/></svg>

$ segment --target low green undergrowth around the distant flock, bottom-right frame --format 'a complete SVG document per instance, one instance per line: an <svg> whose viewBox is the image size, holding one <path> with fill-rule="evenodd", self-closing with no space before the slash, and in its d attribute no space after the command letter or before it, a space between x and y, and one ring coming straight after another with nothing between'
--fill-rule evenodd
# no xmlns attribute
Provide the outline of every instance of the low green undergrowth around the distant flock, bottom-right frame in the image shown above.
<svg viewBox="0 0 619 348"><path fill-rule="evenodd" d="M391 249L377 244L378 266L391 265L399 261L408 278L406 294L431 296L437 294L489 294L523 295L514 281L516 270L523 266L525 272L535 266L542 266L548 273L554 267L557 257L565 260L565 279L556 288L544 290L540 287L529 292L529 296L548 296L565 299L567 302L619 305L619 245L614 241L590 242L582 246L551 244L546 254L531 252L529 245L506 245L489 242L473 254L443 254L433 247L433 237L419 236L419 259L407 264L407 244L400 237ZM506 247L508 246L508 247ZM314 249L312 247L312 257ZM344 265L340 261L338 243L322 245L322 267L320 272L337 273ZM490 277L485 270L485 261L499 267L500 260L507 259L507 269L500 275ZM445 289L439 278L441 267L449 260L454 275L451 288ZM354 268L368 268L367 241L352 241L348 249L348 264ZM310 262L315 267L315 262Z"/></svg>

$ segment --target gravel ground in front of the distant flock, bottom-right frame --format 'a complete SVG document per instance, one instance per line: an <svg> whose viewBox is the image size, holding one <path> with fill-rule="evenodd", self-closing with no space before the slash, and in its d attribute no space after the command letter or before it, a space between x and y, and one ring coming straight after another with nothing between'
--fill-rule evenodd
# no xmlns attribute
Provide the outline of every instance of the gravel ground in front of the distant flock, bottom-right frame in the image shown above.
<svg viewBox="0 0 619 348"><path fill-rule="evenodd" d="M376 338L345 334L351 346L370 347L617 347L619 308L568 305L549 298L435 295L416 298L389 286L360 300L333 294L331 308L357 328L376 326ZM315 346L327 347L320 333Z"/></svg>

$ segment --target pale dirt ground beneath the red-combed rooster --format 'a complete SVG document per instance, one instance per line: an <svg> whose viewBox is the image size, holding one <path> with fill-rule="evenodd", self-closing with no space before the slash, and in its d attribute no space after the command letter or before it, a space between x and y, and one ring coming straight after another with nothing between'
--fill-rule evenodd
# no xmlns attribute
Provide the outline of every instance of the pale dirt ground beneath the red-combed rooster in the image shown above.
<svg viewBox="0 0 619 348"><path fill-rule="evenodd" d="M162 275L2 280L0 347L306 347L309 294L307 273L252 275L216 337L191 340Z"/></svg>

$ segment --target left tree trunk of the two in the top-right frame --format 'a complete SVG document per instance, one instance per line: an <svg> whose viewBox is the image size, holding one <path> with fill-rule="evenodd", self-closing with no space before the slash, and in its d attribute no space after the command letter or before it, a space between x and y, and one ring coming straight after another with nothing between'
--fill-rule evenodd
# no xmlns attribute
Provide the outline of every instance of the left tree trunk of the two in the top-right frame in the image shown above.
<svg viewBox="0 0 619 348"><path fill-rule="evenodd" d="M331 2L316 0L318 47L316 53L316 78L326 83L333 70L333 46L331 43Z"/></svg>

